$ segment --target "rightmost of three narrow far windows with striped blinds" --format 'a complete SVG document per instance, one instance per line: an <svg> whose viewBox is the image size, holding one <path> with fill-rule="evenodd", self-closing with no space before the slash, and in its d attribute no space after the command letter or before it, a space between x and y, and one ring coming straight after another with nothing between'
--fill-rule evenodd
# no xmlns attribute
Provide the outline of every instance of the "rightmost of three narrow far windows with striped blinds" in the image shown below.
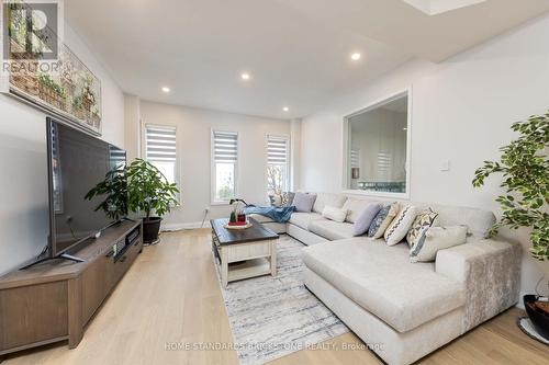
<svg viewBox="0 0 549 365"><path fill-rule="evenodd" d="M267 136L267 195L288 191L290 185L289 141Z"/></svg>

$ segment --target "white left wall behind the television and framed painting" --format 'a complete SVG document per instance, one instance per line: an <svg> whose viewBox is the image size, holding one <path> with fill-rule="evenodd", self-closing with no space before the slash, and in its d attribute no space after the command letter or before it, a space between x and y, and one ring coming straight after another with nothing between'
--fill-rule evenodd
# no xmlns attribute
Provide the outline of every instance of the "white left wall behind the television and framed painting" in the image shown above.
<svg viewBox="0 0 549 365"><path fill-rule="evenodd" d="M102 82L103 138L124 147L122 91L76 33L65 43ZM0 94L0 274L37 255L47 243L46 114Z"/></svg>

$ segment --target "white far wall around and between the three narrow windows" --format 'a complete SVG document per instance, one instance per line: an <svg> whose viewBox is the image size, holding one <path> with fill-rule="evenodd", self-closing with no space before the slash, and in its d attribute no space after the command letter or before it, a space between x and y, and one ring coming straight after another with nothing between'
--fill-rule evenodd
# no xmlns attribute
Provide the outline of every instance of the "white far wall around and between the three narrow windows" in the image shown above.
<svg viewBox="0 0 549 365"><path fill-rule="evenodd" d="M212 128L239 133L238 196L250 204L265 204L266 199L267 135L290 137L291 134L289 121L146 101L141 102L141 118L144 124L177 126L182 204L166 217L165 228L168 229L195 227L204 218L205 207L211 206ZM211 206L208 219L227 217L229 212L227 205Z"/></svg>

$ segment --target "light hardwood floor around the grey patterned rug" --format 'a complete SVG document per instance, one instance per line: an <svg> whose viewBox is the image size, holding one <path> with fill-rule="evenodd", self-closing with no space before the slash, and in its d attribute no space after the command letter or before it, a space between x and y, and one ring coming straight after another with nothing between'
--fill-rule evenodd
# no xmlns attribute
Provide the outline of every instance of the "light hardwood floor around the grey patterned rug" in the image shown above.
<svg viewBox="0 0 549 365"><path fill-rule="evenodd" d="M484 323L422 364L549 364L549 347L516 327L518 309ZM234 351L182 351L179 344L231 343L210 253L210 231L164 233L145 248L85 333L80 345L51 345L10 356L20 364L238 364ZM327 344L361 344L352 333ZM175 350L166 350L166 346ZM180 347L181 349L181 347ZM369 351L300 351L272 364L381 364Z"/></svg>

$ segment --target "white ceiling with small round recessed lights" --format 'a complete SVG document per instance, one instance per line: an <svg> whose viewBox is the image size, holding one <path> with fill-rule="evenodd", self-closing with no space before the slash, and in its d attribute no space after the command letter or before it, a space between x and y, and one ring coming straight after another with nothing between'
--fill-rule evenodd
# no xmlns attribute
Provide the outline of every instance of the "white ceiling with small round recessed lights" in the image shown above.
<svg viewBox="0 0 549 365"><path fill-rule="evenodd" d="M70 25L124 92L278 118L313 113L412 57L441 60L548 10L548 0L488 0L435 16L401 0L65 0Z"/></svg>

